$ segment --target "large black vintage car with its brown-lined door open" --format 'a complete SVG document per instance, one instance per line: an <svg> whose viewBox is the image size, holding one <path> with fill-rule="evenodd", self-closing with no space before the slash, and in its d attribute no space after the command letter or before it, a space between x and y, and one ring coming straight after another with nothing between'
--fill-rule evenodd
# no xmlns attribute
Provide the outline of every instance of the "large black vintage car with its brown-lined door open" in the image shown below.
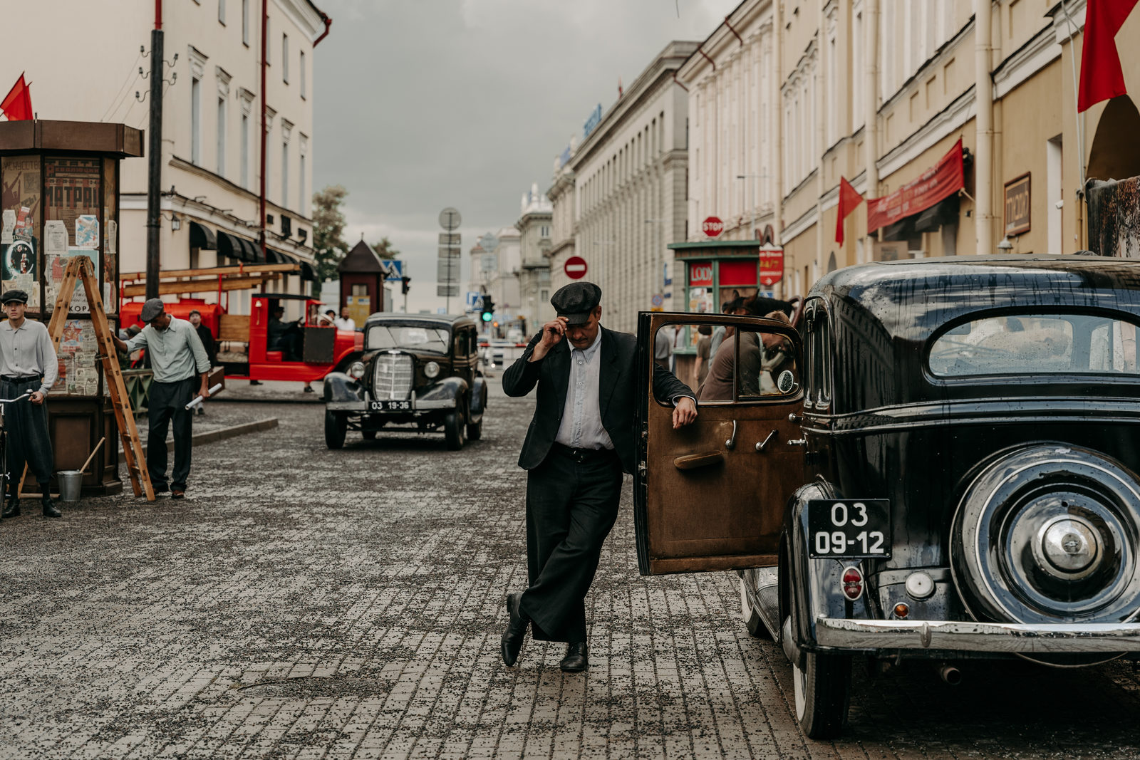
<svg viewBox="0 0 1140 760"><path fill-rule="evenodd" d="M739 377L759 342L726 340L735 389L674 431L648 390L670 322L759 330L791 361ZM739 570L815 738L846 724L856 657L951 683L974 659L1137 657L1138 325L1140 262L1093 256L841 269L806 299L803 338L644 313L641 572Z"/></svg>

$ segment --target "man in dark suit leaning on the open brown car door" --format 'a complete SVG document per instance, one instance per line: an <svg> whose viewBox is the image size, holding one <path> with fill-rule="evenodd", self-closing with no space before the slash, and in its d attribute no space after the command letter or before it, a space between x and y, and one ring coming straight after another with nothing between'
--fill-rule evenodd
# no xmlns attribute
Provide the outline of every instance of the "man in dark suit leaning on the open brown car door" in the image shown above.
<svg viewBox="0 0 1140 760"><path fill-rule="evenodd" d="M636 459L637 338L601 326L601 300L602 288L593 283L560 288L551 299L557 318L503 373L507 395L538 386L519 456L528 471L529 585L507 595L507 665L518 661L529 626L537 640L568 644L563 671L589 667L586 593L618 516L622 472L632 473ZM697 419L693 392L659 366L653 395L673 402L674 427Z"/></svg>

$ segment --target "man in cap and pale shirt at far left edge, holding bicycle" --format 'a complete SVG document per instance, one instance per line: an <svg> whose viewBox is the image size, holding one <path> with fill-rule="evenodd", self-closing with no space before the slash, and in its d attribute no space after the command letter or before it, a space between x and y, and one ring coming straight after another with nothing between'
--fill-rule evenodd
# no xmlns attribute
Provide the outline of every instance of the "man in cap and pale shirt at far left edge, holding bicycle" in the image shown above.
<svg viewBox="0 0 1140 760"><path fill-rule="evenodd" d="M8 500L2 516L15 517L19 514L19 481L26 463L40 484L43 516L59 517L48 487L55 469L55 456L48 435L48 409L43 403L59 374L56 349L43 322L24 318L27 293L7 291L0 295L0 302L8 317L0 324L0 398L15 399L32 392L27 399L5 404Z"/></svg>

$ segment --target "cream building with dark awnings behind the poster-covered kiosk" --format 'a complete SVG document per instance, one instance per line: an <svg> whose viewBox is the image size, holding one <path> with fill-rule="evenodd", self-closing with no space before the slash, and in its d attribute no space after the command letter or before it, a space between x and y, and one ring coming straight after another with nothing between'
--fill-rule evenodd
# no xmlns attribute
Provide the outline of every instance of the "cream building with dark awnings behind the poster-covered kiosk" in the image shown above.
<svg viewBox="0 0 1140 760"><path fill-rule="evenodd" d="M331 22L309 0L268 0L269 66L262 92L261 9L260 0L163 5L164 58L172 64L165 68L160 183L164 270L260 255L259 129L264 99L268 259L301 263L311 275L314 46ZM40 117L122 122L145 130L149 81L139 67L149 73L154 10L146 0L32 3L22 10L21 23L52 30L55 49L79 50L90 40L115 44L100 44L97 56L76 65L73 56L44 56L43 40L36 35L17 34L6 43L5 58L13 66L36 62L28 79L34 80ZM5 71L0 74L7 75ZM19 74L13 72L10 79ZM147 179L147 158L122 162L123 272L146 269ZM268 288L301 292L308 287L303 280L292 275ZM242 307L242 301L235 294L230 309Z"/></svg>

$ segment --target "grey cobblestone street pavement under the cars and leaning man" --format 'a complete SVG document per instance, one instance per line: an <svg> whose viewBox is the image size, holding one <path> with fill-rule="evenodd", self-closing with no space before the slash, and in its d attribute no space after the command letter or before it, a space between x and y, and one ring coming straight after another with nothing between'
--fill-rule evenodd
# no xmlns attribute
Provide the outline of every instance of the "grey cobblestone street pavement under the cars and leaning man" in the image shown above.
<svg viewBox="0 0 1140 760"><path fill-rule="evenodd" d="M530 400L484 440L382 436L327 451L319 406L221 404L280 427L195 450L186 501L67 505L0 523L0 757L1138 757L1127 663L856 669L852 726L807 742L777 648L728 573L642 579L627 504L589 599L592 668L528 641ZM233 407L231 411L227 411Z"/></svg>

